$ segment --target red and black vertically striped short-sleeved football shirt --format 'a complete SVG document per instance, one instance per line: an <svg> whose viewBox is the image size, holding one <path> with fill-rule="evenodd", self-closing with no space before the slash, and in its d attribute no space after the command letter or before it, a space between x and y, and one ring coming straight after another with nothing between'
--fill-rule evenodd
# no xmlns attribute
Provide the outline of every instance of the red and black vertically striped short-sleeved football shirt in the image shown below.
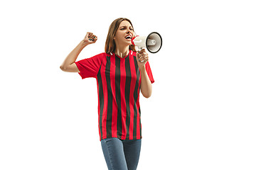
<svg viewBox="0 0 256 170"><path fill-rule="evenodd" d="M141 139L141 74L136 52L129 50L124 58L104 52L75 64L82 79L97 79L100 140L108 137ZM151 83L154 83L149 62L146 62L145 67Z"/></svg>

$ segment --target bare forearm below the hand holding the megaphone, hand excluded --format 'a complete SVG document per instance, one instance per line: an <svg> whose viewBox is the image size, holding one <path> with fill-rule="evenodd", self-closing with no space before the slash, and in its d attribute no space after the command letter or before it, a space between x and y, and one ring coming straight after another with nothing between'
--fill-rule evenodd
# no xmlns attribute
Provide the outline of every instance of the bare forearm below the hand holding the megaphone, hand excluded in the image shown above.
<svg viewBox="0 0 256 170"><path fill-rule="evenodd" d="M149 79L148 74L146 73L146 69L141 69L141 76L142 76L142 84L141 84L141 91L142 95L145 98L149 98L152 94L152 84Z"/></svg>

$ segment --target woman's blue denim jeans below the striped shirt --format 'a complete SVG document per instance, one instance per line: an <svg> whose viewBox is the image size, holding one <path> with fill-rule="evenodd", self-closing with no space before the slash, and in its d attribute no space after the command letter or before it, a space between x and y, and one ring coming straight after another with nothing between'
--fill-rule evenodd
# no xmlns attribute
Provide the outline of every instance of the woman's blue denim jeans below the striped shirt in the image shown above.
<svg viewBox="0 0 256 170"><path fill-rule="evenodd" d="M111 137L101 140L102 151L109 170L136 170L142 140L119 140Z"/></svg>

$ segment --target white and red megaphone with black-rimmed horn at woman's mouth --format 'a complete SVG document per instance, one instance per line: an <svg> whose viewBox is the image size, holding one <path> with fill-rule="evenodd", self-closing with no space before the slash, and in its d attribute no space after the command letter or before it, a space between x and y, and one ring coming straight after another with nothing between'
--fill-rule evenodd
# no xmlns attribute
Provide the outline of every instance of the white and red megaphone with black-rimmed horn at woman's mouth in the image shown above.
<svg viewBox="0 0 256 170"><path fill-rule="evenodd" d="M147 36L137 36L132 38L132 45L135 45L142 49L146 47L146 49L151 53L159 52L162 45L161 35L159 33L153 32Z"/></svg>

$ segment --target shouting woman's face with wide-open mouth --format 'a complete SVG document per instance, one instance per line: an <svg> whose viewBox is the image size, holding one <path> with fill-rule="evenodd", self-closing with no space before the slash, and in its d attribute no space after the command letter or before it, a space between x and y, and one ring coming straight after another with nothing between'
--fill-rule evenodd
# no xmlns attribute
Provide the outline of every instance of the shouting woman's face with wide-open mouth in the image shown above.
<svg viewBox="0 0 256 170"><path fill-rule="evenodd" d="M122 21L114 35L114 41L119 45L132 45L132 38L134 37L134 30L129 21Z"/></svg>

